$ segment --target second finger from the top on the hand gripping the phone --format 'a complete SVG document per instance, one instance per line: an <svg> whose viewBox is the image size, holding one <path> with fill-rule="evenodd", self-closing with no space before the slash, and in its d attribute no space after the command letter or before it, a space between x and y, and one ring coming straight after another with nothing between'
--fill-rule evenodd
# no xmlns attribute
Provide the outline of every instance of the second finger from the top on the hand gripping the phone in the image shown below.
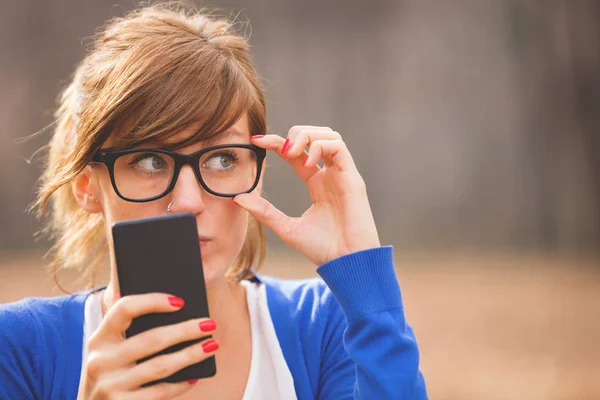
<svg viewBox="0 0 600 400"><path fill-rule="evenodd" d="M168 326L161 326L142 332L125 340L118 352L120 364L135 362L158 353L177 343L201 339L216 329L216 323L209 318L193 319Z"/></svg>

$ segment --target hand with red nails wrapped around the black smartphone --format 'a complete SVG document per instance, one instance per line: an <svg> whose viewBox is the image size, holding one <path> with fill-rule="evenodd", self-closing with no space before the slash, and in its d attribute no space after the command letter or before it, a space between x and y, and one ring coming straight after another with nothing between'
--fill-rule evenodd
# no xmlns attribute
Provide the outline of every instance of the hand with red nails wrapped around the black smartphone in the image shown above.
<svg viewBox="0 0 600 400"><path fill-rule="evenodd" d="M136 360L177 343L206 337L215 329L214 321L193 319L150 329L127 339L124 334L134 318L175 312L182 306L182 299L164 293L124 296L117 300L87 344L78 398L170 399L194 387L195 381L141 386L212 356L218 348L214 340L205 340L140 364Z"/></svg>

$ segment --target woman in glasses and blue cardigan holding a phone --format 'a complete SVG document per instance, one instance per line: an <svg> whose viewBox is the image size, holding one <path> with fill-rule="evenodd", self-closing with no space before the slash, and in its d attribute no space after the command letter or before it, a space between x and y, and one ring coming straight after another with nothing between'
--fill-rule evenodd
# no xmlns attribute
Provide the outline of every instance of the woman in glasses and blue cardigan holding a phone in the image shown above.
<svg viewBox="0 0 600 400"><path fill-rule="evenodd" d="M55 266L94 274L109 265L110 281L0 308L0 398L427 397L392 250L380 246L348 149L330 128L294 126L285 140L265 133L248 44L231 24L160 5L109 22L57 119L37 202L42 214L52 206ZM227 147L240 144L243 154ZM300 218L260 197L262 149L306 183L313 204ZM175 171L173 157L196 152L197 165ZM120 297L107 227L178 212L196 216L211 319L125 339L132 319L185 304L169 293ZM256 275L263 226L323 280ZM213 355L212 378L144 385Z"/></svg>

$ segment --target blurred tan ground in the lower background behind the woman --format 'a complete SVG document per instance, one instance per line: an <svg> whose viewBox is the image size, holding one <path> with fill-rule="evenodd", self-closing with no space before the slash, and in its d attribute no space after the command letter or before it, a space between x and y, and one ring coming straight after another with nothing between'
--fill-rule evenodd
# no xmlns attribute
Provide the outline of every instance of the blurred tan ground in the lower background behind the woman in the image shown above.
<svg viewBox="0 0 600 400"><path fill-rule="evenodd" d="M57 294L41 264L0 254L0 303ZM396 265L432 399L600 399L600 259L403 255ZM315 276L279 253L263 272Z"/></svg>

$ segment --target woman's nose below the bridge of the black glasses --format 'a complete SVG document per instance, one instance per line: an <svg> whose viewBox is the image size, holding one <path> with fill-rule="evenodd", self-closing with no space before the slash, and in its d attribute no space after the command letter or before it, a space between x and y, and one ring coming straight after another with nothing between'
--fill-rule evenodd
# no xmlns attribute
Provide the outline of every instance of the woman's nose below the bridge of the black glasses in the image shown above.
<svg viewBox="0 0 600 400"><path fill-rule="evenodd" d="M203 196L208 193L200 186L194 170L189 165L184 165L179 171L177 182L171 192L171 201L173 207L171 211L176 212L191 212L199 214L204 212L206 205L204 204Z"/></svg>

